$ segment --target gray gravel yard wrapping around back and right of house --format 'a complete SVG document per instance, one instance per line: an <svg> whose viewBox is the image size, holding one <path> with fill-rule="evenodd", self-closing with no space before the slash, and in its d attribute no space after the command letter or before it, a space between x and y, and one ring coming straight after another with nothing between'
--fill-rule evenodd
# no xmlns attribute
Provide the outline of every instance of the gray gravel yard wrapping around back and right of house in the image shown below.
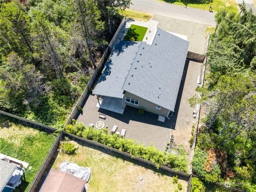
<svg viewBox="0 0 256 192"><path fill-rule="evenodd" d="M145 111L143 115L138 114L138 109L126 106L123 114L97 107L97 96L87 95L82 108L83 114L77 118L79 123L89 126L89 123L103 121L108 126L108 131L114 125L118 126L117 131L126 130L125 138L139 141L146 146L150 143L164 150L169 142L171 134L174 135L174 145L183 145L189 151L189 139L194 123L192 116L193 108L189 106L188 99L192 97L197 86L197 76L200 74L202 63L187 61L183 71L180 90L175 106L175 113L165 122L158 121L158 115ZM99 113L105 114L106 119L100 119Z"/></svg>

